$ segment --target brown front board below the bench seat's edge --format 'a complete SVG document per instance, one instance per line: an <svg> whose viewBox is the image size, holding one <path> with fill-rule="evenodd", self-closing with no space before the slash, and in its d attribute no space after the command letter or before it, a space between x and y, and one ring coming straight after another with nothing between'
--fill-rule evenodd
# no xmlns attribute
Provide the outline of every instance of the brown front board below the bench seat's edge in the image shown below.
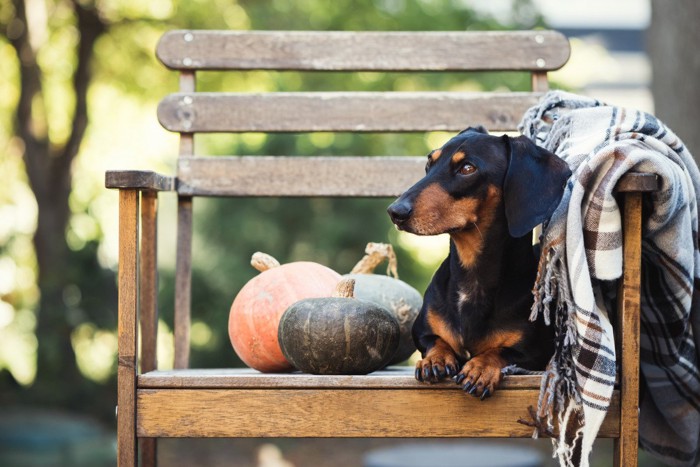
<svg viewBox="0 0 700 467"><path fill-rule="evenodd" d="M141 437L530 437L535 389L139 389ZM498 410L496 410L498 409ZM599 436L619 433L619 395ZM618 414L618 418L614 414Z"/></svg>

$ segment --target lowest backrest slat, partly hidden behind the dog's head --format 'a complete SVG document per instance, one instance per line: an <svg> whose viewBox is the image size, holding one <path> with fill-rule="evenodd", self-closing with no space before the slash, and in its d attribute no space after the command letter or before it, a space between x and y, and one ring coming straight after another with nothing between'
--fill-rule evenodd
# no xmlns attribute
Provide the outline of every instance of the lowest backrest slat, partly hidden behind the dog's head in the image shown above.
<svg viewBox="0 0 700 467"><path fill-rule="evenodd" d="M178 187L191 196L368 196L403 193L424 157L181 157Z"/></svg>

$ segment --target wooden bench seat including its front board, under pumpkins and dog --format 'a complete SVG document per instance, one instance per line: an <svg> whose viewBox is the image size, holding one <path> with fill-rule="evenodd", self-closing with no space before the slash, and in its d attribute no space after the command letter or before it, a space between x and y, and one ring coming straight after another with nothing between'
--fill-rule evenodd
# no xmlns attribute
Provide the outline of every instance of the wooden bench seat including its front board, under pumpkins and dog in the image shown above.
<svg viewBox="0 0 700 467"><path fill-rule="evenodd" d="M423 384L413 368L369 375L264 374L251 369L187 369L139 375L140 437L529 438L529 406L540 377L506 376L482 402L450 381ZM620 433L619 391L599 432ZM488 410L497 407L498 410ZM486 409L486 410L484 410Z"/></svg>

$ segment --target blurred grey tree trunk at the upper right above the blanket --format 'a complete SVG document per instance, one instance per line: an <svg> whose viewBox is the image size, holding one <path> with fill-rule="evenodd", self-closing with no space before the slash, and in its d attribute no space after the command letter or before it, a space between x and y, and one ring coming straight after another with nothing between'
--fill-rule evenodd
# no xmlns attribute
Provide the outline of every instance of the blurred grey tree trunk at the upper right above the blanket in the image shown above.
<svg viewBox="0 0 700 467"><path fill-rule="evenodd" d="M651 0L647 49L656 115L700 161L700 1Z"/></svg>

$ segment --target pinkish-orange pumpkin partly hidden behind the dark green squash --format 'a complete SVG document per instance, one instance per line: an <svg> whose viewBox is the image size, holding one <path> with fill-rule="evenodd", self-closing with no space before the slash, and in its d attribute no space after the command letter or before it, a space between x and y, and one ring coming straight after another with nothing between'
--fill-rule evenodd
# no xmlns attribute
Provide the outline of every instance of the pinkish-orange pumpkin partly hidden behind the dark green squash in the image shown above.
<svg viewBox="0 0 700 467"><path fill-rule="evenodd" d="M280 318L292 303L330 296L340 274L308 261L280 265L264 253L255 253L251 264L260 274L243 286L231 305L231 344L241 360L258 371L292 370L277 340Z"/></svg>

